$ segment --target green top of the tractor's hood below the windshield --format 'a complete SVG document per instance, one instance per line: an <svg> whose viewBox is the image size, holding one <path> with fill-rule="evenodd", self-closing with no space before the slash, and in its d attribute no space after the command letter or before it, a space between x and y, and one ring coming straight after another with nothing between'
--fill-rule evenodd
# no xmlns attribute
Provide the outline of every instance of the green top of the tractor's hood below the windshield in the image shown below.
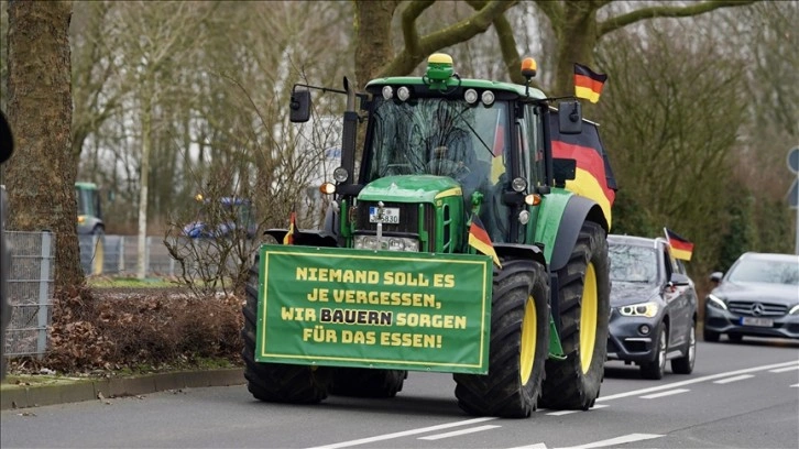
<svg viewBox="0 0 799 449"><path fill-rule="evenodd" d="M434 202L461 196L460 184L448 176L386 176L369 183L358 195L360 201Z"/></svg>

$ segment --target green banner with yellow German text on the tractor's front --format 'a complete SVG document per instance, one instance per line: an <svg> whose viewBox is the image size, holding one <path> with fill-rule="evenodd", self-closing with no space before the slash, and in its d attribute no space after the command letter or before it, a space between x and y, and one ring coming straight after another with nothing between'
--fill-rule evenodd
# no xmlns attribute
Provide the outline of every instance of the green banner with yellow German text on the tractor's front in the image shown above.
<svg viewBox="0 0 799 449"><path fill-rule="evenodd" d="M261 247L260 362L488 372L491 259Z"/></svg>

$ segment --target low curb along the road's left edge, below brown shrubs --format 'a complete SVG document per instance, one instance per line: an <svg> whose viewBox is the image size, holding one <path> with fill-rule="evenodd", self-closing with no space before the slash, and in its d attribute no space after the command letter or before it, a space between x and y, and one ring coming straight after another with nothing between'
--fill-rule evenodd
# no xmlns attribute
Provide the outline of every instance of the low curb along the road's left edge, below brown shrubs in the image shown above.
<svg viewBox="0 0 799 449"><path fill-rule="evenodd" d="M8 388L0 393L0 409L136 396L179 388L230 386L245 383L243 369L178 371L135 377L80 380L61 385L35 385ZM102 395L102 396L100 396Z"/></svg>

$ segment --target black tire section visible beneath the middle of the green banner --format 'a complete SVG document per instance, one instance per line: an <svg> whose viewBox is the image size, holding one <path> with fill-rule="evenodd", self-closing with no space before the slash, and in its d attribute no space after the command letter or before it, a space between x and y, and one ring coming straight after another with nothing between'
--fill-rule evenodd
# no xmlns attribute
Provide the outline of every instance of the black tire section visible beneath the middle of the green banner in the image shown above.
<svg viewBox="0 0 799 449"><path fill-rule="evenodd" d="M333 374L330 394L354 397L394 397L408 376L404 370L339 368Z"/></svg>

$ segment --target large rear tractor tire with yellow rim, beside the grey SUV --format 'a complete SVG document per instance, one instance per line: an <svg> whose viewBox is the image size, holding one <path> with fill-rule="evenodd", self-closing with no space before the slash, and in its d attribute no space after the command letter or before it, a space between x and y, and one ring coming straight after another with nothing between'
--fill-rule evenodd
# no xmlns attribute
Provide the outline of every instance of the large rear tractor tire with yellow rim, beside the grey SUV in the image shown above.
<svg viewBox="0 0 799 449"><path fill-rule="evenodd" d="M601 226L587 221L569 262L558 270L560 343L565 360L546 364L540 406L583 409L594 405L608 357L610 262Z"/></svg>

